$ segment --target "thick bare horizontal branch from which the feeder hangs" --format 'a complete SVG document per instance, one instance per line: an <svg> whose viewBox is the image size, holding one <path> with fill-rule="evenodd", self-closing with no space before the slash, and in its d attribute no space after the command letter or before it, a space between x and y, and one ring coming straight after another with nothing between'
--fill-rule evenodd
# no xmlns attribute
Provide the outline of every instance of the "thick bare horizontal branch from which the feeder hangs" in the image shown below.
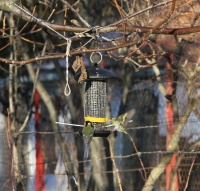
<svg viewBox="0 0 200 191"><path fill-rule="evenodd" d="M169 2L171 2L171 1L169 1ZM162 4L163 3L157 4L157 6L160 6ZM150 6L150 7L155 8L157 6L155 5L155 6ZM52 28L56 31L65 31L65 32L74 32L74 33L84 33L85 31L87 31L89 33L93 33L92 28L89 28L89 27L58 25L58 24L54 24L51 22L47 22L42 19L37 19L36 17L31 15L31 13L29 11L27 11L27 12L29 12L29 14L27 14L25 11L19 9L12 1L0 0L0 9L11 12L14 15L16 15L17 17L22 18L23 20L28 21L30 23L36 23L43 28L47 28L47 26L49 26L50 28ZM24 7L23 7L23 9L24 9ZM144 9L144 11L149 10L149 9L150 8ZM137 15L137 14L138 13L135 13L135 15ZM125 19L130 19L132 17L133 17L133 15L130 15ZM122 20L119 20L111 25L108 25L105 27L95 27L95 28L96 28L96 30L98 30L98 33L124 32L124 25L117 25L121 22L122 22ZM126 25L125 27L126 27L127 32L147 33L149 31L153 30L152 34L184 35L184 34L200 32L200 26L184 27L184 28L156 28L156 29L154 29L154 27L141 27L141 26L130 26L130 25Z"/></svg>

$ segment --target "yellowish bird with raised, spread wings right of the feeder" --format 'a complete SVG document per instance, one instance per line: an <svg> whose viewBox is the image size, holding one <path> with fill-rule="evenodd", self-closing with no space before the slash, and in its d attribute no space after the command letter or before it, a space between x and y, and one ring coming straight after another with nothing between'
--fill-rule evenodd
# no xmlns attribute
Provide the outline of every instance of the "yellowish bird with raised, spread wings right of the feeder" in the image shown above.
<svg viewBox="0 0 200 191"><path fill-rule="evenodd" d="M119 132L123 132L126 133L126 130L124 129L127 125L129 120L133 117L133 115L135 114L135 109L132 109L122 115L120 115L117 118L111 118L115 128L114 131L119 131Z"/></svg>

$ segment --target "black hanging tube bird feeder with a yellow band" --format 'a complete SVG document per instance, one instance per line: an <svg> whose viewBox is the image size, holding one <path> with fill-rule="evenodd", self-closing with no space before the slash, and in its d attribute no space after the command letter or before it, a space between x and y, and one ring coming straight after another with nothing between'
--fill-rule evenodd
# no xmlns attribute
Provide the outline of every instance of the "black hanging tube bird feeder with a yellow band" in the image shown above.
<svg viewBox="0 0 200 191"><path fill-rule="evenodd" d="M101 53L92 53L90 60L93 66L86 69L87 79L84 81L84 121L90 121L94 126L94 137L107 137L111 132L104 129L107 121L106 81L117 77L109 70L98 66L102 60ZM78 73L75 78L78 79L80 75Z"/></svg>

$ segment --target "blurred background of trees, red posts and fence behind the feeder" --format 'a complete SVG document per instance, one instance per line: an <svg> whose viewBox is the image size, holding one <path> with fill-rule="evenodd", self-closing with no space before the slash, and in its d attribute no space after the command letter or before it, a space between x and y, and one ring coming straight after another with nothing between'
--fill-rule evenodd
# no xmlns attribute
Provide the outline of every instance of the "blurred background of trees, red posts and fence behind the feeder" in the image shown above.
<svg viewBox="0 0 200 191"><path fill-rule="evenodd" d="M72 41L73 53L138 40L147 32L130 32L128 27L154 27L166 19L172 6L162 0L67 2L92 27L104 28L121 20L123 29L79 35ZM51 23L84 27L63 1L16 3ZM133 108L136 113L126 127L128 134L114 131L108 137L94 137L84 159L83 137L72 126L55 122L84 125L85 82L77 82L72 65L81 56L84 66L91 67L91 53L69 56L66 68L65 58L49 59L65 54L65 40L1 10L0 190L140 191L151 170L169 154L168 144L177 128L182 129L178 146L153 190L199 190L199 14L198 0L177 0L173 15L161 27L172 32L161 30L134 45L101 51L99 66L117 76L107 81L107 118ZM184 27L187 34L173 34ZM69 38L76 35L59 33ZM22 63L41 56L46 59ZM69 96L64 94L66 77Z"/></svg>

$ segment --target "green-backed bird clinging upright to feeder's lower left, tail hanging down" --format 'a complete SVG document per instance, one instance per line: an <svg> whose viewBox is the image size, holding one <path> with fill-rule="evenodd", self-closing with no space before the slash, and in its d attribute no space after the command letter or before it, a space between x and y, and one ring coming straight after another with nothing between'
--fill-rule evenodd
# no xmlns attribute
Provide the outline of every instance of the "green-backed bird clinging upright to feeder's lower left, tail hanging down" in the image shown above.
<svg viewBox="0 0 200 191"><path fill-rule="evenodd" d="M82 130L83 140L85 143L84 158L88 157L88 147L92 141L94 134L94 127L90 121L86 121L86 126Z"/></svg>

